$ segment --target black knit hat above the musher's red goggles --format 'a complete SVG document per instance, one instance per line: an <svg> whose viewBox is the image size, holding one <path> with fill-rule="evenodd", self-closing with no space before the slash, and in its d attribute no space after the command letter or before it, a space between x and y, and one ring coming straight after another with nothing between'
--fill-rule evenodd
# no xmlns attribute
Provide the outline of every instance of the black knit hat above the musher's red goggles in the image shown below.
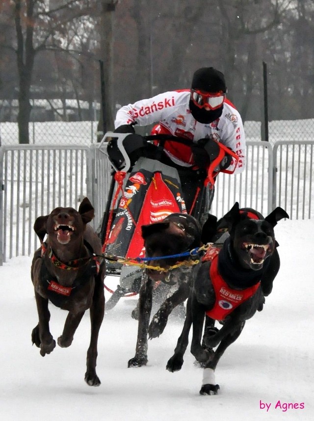
<svg viewBox="0 0 314 421"><path fill-rule="evenodd" d="M200 89L205 92L227 92L223 73L213 67L202 67L198 69L193 75L191 88Z"/></svg>

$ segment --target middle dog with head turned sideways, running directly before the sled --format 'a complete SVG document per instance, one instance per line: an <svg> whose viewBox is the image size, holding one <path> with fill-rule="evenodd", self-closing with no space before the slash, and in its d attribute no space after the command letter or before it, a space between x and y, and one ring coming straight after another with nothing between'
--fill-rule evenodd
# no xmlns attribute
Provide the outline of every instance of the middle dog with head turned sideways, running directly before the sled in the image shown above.
<svg viewBox="0 0 314 421"><path fill-rule="evenodd" d="M173 269L169 277L166 271L158 271L158 267L167 270L178 261L187 260L186 256L169 259L163 259L162 257L181 254L199 247L201 245L201 226L190 215L172 213L162 222L143 225L142 237L146 256L160 259L147 262L153 268L146 269L143 285L139 291L136 351L134 358L129 361L128 367L141 367L147 364L147 336L150 339L157 338L163 332L172 310L188 297L192 281L190 276L192 266ZM163 302L149 325L153 287L157 281L169 285L178 284L178 289Z"/></svg>

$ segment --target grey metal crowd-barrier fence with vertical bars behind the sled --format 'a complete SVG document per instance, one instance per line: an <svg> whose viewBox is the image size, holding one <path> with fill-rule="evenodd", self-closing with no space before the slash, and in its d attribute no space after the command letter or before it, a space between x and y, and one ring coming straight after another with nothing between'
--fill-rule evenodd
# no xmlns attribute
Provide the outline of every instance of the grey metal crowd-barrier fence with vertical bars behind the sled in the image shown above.
<svg viewBox="0 0 314 421"><path fill-rule="evenodd" d="M276 206L292 219L314 217L312 174L314 141L247 142L246 170L220 174L211 213L217 217L235 201L264 215ZM78 209L84 196L102 221L111 180L110 163L99 145L16 145L0 148L0 264L31 255L39 246L33 232L37 216L57 206Z"/></svg>

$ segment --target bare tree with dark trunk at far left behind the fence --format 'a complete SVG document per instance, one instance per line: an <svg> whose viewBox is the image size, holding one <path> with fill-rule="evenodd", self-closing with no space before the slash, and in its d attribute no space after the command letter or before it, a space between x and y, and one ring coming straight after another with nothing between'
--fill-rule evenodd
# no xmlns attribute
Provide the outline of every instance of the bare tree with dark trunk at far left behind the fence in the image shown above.
<svg viewBox="0 0 314 421"><path fill-rule="evenodd" d="M88 15L95 0L4 0L2 20L9 26L14 19L15 38L6 40L5 47L16 53L19 79L19 143L29 143L30 93L35 56L44 50L67 51L62 34L68 22ZM3 5L2 5L3 6Z"/></svg>

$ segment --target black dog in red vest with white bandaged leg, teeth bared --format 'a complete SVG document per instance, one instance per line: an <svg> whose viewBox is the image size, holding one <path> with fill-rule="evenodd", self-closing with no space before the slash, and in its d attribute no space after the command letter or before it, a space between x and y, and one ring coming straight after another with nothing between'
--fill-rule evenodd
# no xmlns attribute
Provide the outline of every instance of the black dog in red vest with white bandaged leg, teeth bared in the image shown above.
<svg viewBox="0 0 314 421"><path fill-rule="evenodd" d="M214 370L220 357L238 338L245 320L262 310L263 290L270 292L280 267L273 228L283 218L288 218L286 211L276 208L265 219L252 219L248 212L241 213L235 203L222 220L230 237L216 257L205 259L194 268L183 331L167 369L181 369L193 324L191 353L205 364L201 395L217 394L219 385L215 384ZM220 330L212 328L206 332L204 341L208 347L219 344L214 353L201 345L205 314L212 319L212 325L215 319L223 324Z"/></svg>

